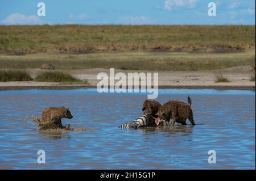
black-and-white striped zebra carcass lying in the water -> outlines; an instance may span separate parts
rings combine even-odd
[[[147,126],[149,117],[150,117],[150,114],[146,113],[133,121],[127,121],[126,123],[123,123],[120,126],[120,128],[121,129],[137,129],[139,127]]]

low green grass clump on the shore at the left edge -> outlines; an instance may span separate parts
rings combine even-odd
[[[0,82],[7,81],[32,81],[32,78],[24,70],[0,70]]]

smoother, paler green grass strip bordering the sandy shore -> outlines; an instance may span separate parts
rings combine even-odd
[[[55,69],[115,68],[122,70],[216,70],[255,65],[255,52],[185,53],[117,52],[90,54],[0,54],[1,68],[35,69],[44,63]]]

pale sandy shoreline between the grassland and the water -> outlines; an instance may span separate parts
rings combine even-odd
[[[27,69],[31,77],[34,78],[42,71],[40,69]],[[59,70],[55,70],[59,71]],[[96,88],[97,74],[104,72],[109,75],[109,69],[83,69],[83,70],[60,70],[72,74],[74,77],[87,80],[89,85],[66,85],[63,83],[51,82],[0,82],[0,90],[18,90],[18,89],[82,89]],[[238,89],[238,90],[255,90],[255,82],[250,81],[253,70],[250,66],[238,66],[234,68],[221,70],[205,70],[205,71],[141,71],[141,70],[115,70],[127,73],[154,73],[158,72],[158,85],[160,89]],[[231,82],[215,83],[215,74],[221,72]],[[117,81],[115,81],[117,82]]]

